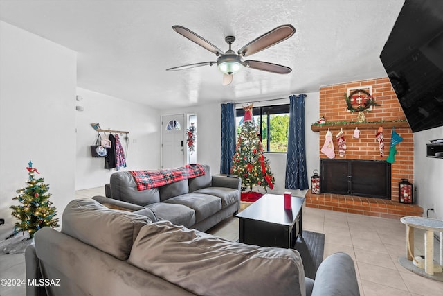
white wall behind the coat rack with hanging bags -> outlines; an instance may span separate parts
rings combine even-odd
[[[129,132],[129,141],[125,141],[125,134],[119,134],[127,163],[127,167],[121,171],[160,167],[158,110],[80,87],[77,88],[77,94],[83,98],[77,105],[84,107],[84,111],[75,112],[75,190],[103,186],[109,183],[110,175],[116,172],[115,168],[104,168],[104,158],[91,157],[89,146],[93,145],[98,134],[91,123],[100,123],[102,129]]]

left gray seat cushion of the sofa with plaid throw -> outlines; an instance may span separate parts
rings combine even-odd
[[[182,204],[169,204],[158,202],[147,206],[154,212],[158,221],[167,220],[176,225],[190,227],[195,224],[195,211]]]

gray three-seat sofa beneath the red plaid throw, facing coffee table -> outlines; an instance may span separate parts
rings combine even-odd
[[[107,207],[129,209],[204,232],[238,212],[242,181],[210,175],[210,167],[202,166],[204,175],[142,191],[138,191],[131,173],[116,172],[111,175],[107,196],[93,199]]]

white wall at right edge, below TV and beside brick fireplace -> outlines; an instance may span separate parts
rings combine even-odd
[[[429,211],[429,217],[443,220],[443,159],[426,157],[429,140],[442,139],[443,127],[414,133],[414,186],[415,203]]]

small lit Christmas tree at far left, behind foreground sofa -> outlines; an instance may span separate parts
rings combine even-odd
[[[39,172],[33,168],[33,163],[29,161],[28,186],[17,190],[19,194],[12,200],[18,200],[21,205],[11,206],[12,216],[20,221],[15,223],[14,231],[10,237],[19,232],[28,232],[30,238],[34,237],[35,232],[42,227],[58,227],[58,218],[55,218],[57,211],[52,207],[49,200],[51,193],[48,193],[49,186],[44,184],[44,178],[35,178],[34,174]]]

